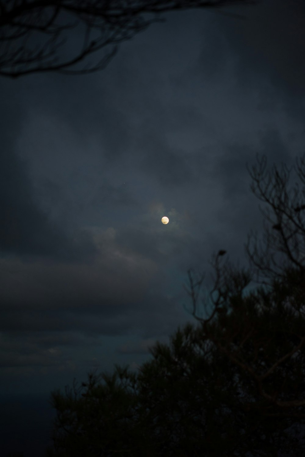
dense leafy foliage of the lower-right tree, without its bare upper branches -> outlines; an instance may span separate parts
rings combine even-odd
[[[284,307],[266,305],[262,312],[250,299],[241,304],[242,314],[235,308],[206,331],[187,324],[170,347],[157,343],[153,360],[137,374],[116,367],[106,386],[92,378],[90,384],[89,375],[79,399],[53,394],[59,414],[56,451],[48,456],[276,456],[279,449],[302,456],[304,444],[287,429],[304,417],[298,397],[304,392],[304,348],[281,359],[298,344],[304,321]],[[257,333],[249,335],[250,323]],[[246,363],[263,378],[263,393]]]

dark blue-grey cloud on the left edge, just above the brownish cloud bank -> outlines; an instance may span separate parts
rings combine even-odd
[[[16,154],[12,125],[20,128],[3,99],[7,112],[2,117],[0,154],[0,251],[2,255],[35,256],[58,260],[89,260],[95,248],[85,233],[73,240],[39,208],[29,177],[28,160]]]

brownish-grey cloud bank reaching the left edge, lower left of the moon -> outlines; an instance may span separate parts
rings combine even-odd
[[[26,309],[27,312],[50,308],[53,311],[83,309],[90,312],[101,306],[122,307],[126,306],[125,302],[137,301],[156,270],[154,262],[142,254],[121,248],[114,239],[114,230],[95,234],[94,238],[99,256],[88,264],[44,260],[24,264],[19,260],[3,260],[2,309]],[[52,325],[51,321],[48,325]]]

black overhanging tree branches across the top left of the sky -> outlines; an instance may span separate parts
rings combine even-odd
[[[160,14],[193,8],[256,4],[254,0],[1,0],[0,74],[11,78],[56,71],[83,74],[104,69],[118,50],[156,21]],[[226,13],[225,13],[226,14]],[[229,13],[227,13],[229,14]],[[239,15],[234,15],[242,17]],[[74,57],[62,58],[61,46],[76,27],[84,37]],[[76,35],[74,36],[76,38]],[[74,43],[75,48],[75,43]],[[96,64],[77,64],[105,48]]]

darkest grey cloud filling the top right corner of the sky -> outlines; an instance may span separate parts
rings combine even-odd
[[[232,71],[242,93],[257,91],[261,110],[280,103],[290,115],[304,116],[304,2],[266,0],[236,10],[246,19],[217,17],[206,24],[197,71],[209,80]]]

